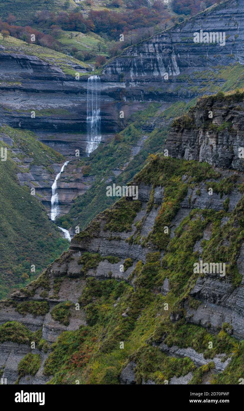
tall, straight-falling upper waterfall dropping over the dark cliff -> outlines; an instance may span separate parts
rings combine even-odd
[[[98,147],[101,141],[101,117],[100,117],[100,77],[91,76],[87,82],[87,147],[85,154]]]

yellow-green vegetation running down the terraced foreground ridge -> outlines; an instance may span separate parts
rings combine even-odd
[[[186,185],[182,182],[183,175],[189,176]],[[217,176],[206,163],[166,158],[163,155],[157,155],[140,171],[135,178],[136,184],[144,182],[166,187],[159,210],[160,218],[155,220],[153,233],[156,233],[156,236],[152,238],[154,244],[158,245],[164,238],[163,226],[166,221],[172,221],[182,196],[187,193],[186,186],[209,178],[215,179]],[[231,185],[233,189],[235,182]],[[120,202],[123,203],[124,200],[119,200],[118,203]],[[198,259],[198,252],[193,253],[193,246],[203,237],[203,231],[209,222],[213,223],[214,229],[211,240],[202,244],[205,261],[211,261],[214,253],[216,258],[220,238],[225,238],[228,233],[231,245],[220,247],[218,258],[222,256],[226,261],[233,260],[233,255],[236,255],[241,244],[236,238],[243,238],[243,208],[242,199],[233,212],[193,209],[175,230],[175,238],[170,239],[165,235],[167,241],[162,242],[165,250],[162,263],[159,252],[147,254],[144,265],[137,263],[134,290],[124,282],[117,284],[114,280],[101,282],[87,278],[87,286],[80,302],[85,308],[88,326],[78,331],[64,332],[58,338],[57,344],[54,344],[53,353],[45,366],[45,372],[54,375],[51,383],[75,383],[78,379],[80,383],[117,384],[121,369],[129,360],[137,364],[137,383],[142,383],[142,379],[152,379],[158,384],[164,384],[164,381],[172,376],[185,375],[190,371],[193,372],[191,383],[200,383],[205,372],[211,370],[211,361],[216,354],[235,353],[226,371],[214,375],[212,383],[238,384],[243,369],[243,344],[230,337],[224,325],[222,330],[212,335],[205,328],[187,324],[184,314],[180,321],[172,323],[169,312],[179,313],[181,316],[181,302],[184,299],[189,299],[192,306],[199,304],[197,300],[189,297],[189,291],[198,277],[192,269],[193,263]],[[108,224],[111,224],[115,231],[117,225],[119,230],[121,222],[124,221],[124,207],[117,208],[116,215],[113,209],[105,212],[105,215]],[[230,223],[221,228],[221,219],[224,216],[230,217]],[[238,219],[239,226],[233,232],[232,224],[235,219]],[[82,237],[82,234],[78,234],[77,239],[79,236]],[[86,266],[89,261],[92,264],[92,255],[90,259],[86,256],[85,261]],[[237,285],[235,264],[233,261],[227,273],[234,286]],[[165,278],[169,279],[170,292],[162,296],[159,290]],[[163,309],[164,303],[168,303],[169,311]],[[128,316],[123,318],[121,314],[125,310]],[[157,346],[152,345],[153,342],[157,344],[163,335],[169,346],[175,344],[182,348],[191,347],[203,353],[208,365],[197,369],[189,358],[183,360],[166,356]],[[120,341],[124,342],[124,349],[120,349]],[[214,349],[208,348],[208,341],[213,342]]]

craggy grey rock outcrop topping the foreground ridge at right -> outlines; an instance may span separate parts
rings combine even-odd
[[[173,122],[165,144],[168,154],[244,171],[243,110],[238,93],[200,99],[189,115]]]

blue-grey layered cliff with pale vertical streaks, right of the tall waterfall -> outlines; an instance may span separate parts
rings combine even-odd
[[[194,91],[189,91],[191,87],[187,87],[187,77],[193,72],[211,70],[219,64],[243,64],[243,11],[243,0],[209,7],[173,28],[128,47],[104,67],[104,77],[123,79],[128,99],[132,96],[145,101],[187,99],[194,95]],[[193,42],[194,33],[201,29],[208,33],[225,32],[225,46]],[[166,73],[168,79],[165,79]],[[194,76],[191,78],[193,88],[204,88],[200,83]]]

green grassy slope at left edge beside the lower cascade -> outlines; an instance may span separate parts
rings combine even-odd
[[[52,162],[61,160],[60,154],[36,141],[31,132],[1,127],[0,133],[13,139],[13,148],[21,148],[27,155],[33,152],[33,164],[51,170]],[[0,161],[0,298],[4,298],[13,287],[34,279],[67,249],[68,242],[49,221],[30,188],[19,185],[17,173],[21,169],[12,159],[16,155],[3,141],[0,146],[8,148],[7,161]],[[32,264],[35,272],[30,271]]]

